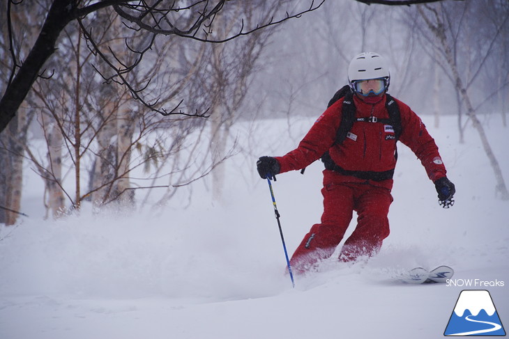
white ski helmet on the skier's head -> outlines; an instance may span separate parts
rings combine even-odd
[[[356,92],[355,81],[380,78],[384,79],[387,90],[390,82],[389,68],[380,54],[364,52],[351,59],[348,66],[348,84],[354,92]]]

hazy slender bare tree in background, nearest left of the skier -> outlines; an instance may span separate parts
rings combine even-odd
[[[263,17],[272,17],[280,10],[281,4],[269,5],[266,1],[241,1],[237,3],[237,13],[246,13],[246,24],[252,26],[256,13]],[[233,18],[236,13],[225,15],[216,22],[216,29],[226,34],[234,31]],[[225,35],[222,33],[222,35]],[[230,33],[230,34],[231,34]],[[218,164],[213,169],[212,189],[216,199],[222,197],[225,184],[225,168],[220,161],[231,152],[230,130],[239,118],[251,118],[252,114],[243,109],[245,95],[250,88],[250,80],[259,69],[258,59],[268,39],[275,33],[274,29],[256,31],[250,36],[236,40],[233,44],[209,45],[209,67],[203,72],[197,90],[200,95],[210,98],[210,141],[211,161]],[[202,86],[206,85],[206,86]],[[206,91],[204,90],[206,88]],[[233,141],[235,143],[235,141]]]

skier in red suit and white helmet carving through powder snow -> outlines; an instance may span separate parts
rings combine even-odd
[[[420,159],[441,205],[453,205],[455,185],[446,177],[434,139],[407,104],[386,93],[390,74],[384,58],[373,52],[359,54],[349,64],[348,80],[347,90],[336,93],[295,150],[257,161],[263,179],[305,168],[319,158],[324,161],[324,212],[321,223],[312,226],[291,257],[297,274],[316,269],[333,255],[353,211],[358,214],[357,226],[344,242],[339,260],[354,262],[379,252],[389,235],[397,140]],[[335,101],[338,95],[342,98]]]

